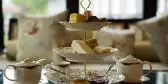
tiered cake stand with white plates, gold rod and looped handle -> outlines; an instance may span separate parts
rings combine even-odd
[[[88,8],[91,5],[91,1],[89,1],[88,6],[85,8],[83,6],[83,1],[80,2],[80,5],[85,11],[88,11]],[[85,13],[86,16],[88,16]],[[81,30],[84,31],[84,40],[86,41],[86,31],[95,31],[95,30],[100,30],[104,26],[110,24],[109,22],[79,22],[79,23],[69,23],[69,22],[59,22],[66,26],[67,28],[75,29],[75,30]],[[78,53],[67,53],[63,50],[63,48],[55,48],[53,49],[54,52],[57,54],[61,55],[62,57],[65,57],[67,61],[72,61],[72,62],[83,62],[84,63],[84,72],[86,75],[86,63],[87,62],[101,62],[104,60],[105,57],[107,56],[112,56],[115,52],[117,52],[117,49],[114,48],[111,50],[110,53],[104,53],[104,54],[78,54]]]

